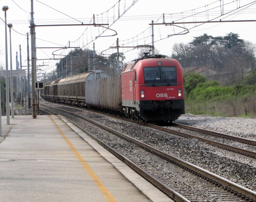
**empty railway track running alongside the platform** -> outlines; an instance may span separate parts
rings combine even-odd
[[[256,192],[91,119],[58,108],[54,110],[72,114],[75,119],[79,117],[97,125],[100,130],[105,130],[104,134],[108,131],[108,134],[104,135],[106,137],[102,137],[102,134],[95,137],[78,126],[175,201],[256,201]],[[100,140],[99,137],[103,139]],[[118,143],[113,143],[113,139],[118,139]]]

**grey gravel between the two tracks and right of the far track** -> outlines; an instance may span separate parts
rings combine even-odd
[[[55,105],[54,107],[67,108],[60,105]],[[256,191],[255,159],[208,145],[198,139],[182,138],[93,112],[77,109],[74,111],[252,191]],[[255,117],[223,118],[185,114],[174,122],[256,140]]]

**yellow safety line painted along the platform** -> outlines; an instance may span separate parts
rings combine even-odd
[[[104,195],[104,197],[107,199],[107,201],[111,202],[117,202],[116,199],[112,196],[112,194],[108,191],[108,189],[105,187],[105,185],[100,181],[99,177],[93,172],[91,167],[88,165],[88,163],[83,159],[83,157],[79,154],[79,152],[76,150],[76,148],[73,146],[73,144],[68,140],[67,136],[62,132],[58,124],[52,119],[51,116],[49,116],[53,122],[53,124],[56,126],[58,131],[60,132],[61,136],[64,138],[64,140],[67,142],[68,146],[71,148],[71,150],[76,155],[76,158],[80,161],[80,163],[84,166],[84,169],[87,171],[87,173],[92,178],[93,182],[96,184],[96,186],[99,188],[101,193]]]

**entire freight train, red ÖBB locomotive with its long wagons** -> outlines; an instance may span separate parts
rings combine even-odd
[[[133,60],[118,76],[93,70],[48,82],[41,97],[145,122],[171,122],[185,113],[182,68],[165,55]]]

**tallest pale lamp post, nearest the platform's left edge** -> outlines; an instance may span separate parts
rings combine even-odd
[[[9,76],[8,76],[8,50],[7,50],[7,24],[6,24],[6,11],[9,9],[8,6],[3,6],[5,18],[5,68],[6,68],[6,122],[10,125],[10,104],[9,104]]]

